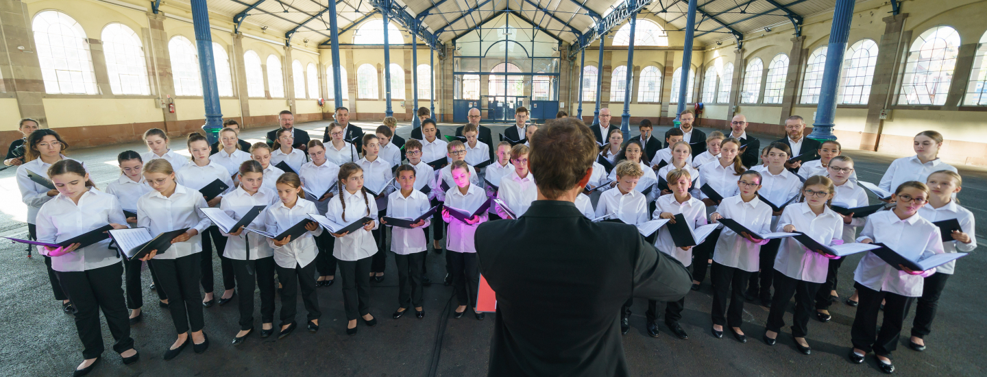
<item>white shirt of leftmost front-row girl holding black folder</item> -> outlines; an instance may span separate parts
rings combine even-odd
[[[116,196],[89,188],[79,196],[77,205],[61,193],[41,205],[38,210],[38,241],[56,244],[107,224],[126,224]],[[38,253],[47,256],[44,247]],[[110,239],[60,257],[51,257],[51,269],[61,272],[84,271],[120,263],[120,257],[110,250]]]

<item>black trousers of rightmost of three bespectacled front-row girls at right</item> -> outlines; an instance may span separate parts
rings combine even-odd
[[[905,313],[912,305],[914,297],[902,296],[885,291],[875,291],[861,283],[856,283],[860,304],[857,305],[857,317],[850,329],[850,337],[854,347],[865,352],[873,350],[878,356],[891,357],[891,351],[898,347],[898,337],[901,336],[901,325],[905,321]],[[880,302],[884,301],[884,321],[877,332],[877,314],[880,313]]]

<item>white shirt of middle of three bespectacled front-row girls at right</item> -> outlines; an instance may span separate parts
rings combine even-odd
[[[780,216],[776,232],[784,232],[786,225],[794,225],[798,232],[805,233],[815,242],[832,246],[841,244],[843,217],[824,206],[816,215],[806,202],[793,203]],[[775,270],[796,280],[823,283],[829,271],[829,259],[815,251],[808,251],[795,238],[783,238],[775,257]]]

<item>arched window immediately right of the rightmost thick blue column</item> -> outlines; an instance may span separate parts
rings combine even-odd
[[[877,65],[877,43],[861,39],[850,46],[840,77],[840,104],[867,105],[871,97],[873,68]]]

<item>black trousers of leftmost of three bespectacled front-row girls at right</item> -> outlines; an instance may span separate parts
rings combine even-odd
[[[713,263],[710,278],[713,280],[713,324],[739,328],[743,324],[743,289],[750,273],[740,268]],[[730,306],[726,306],[726,295]],[[726,316],[723,317],[723,312]]]

